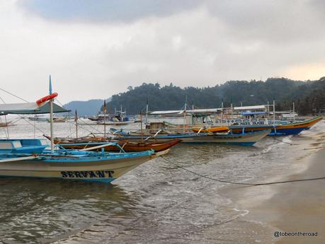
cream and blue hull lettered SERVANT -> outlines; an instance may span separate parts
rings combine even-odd
[[[138,165],[156,157],[152,151],[128,154],[128,156],[118,156],[116,153],[105,158],[49,157],[1,162],[0,176],[112,182]]]

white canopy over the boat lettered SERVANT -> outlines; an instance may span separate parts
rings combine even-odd
[[[69,112],[61,106],[53,103],[53,112]],[[34,115],[50,113],[50,102],[38,106],[37,103],[8,103],[0,104],[0,115]]]

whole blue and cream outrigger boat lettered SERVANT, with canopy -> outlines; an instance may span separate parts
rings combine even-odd
[[[42,114],[50,112],[51,137],[53,138],[53,112],[68,112],[53,103],[57,93],[41,98],[36,103],[0,105],[1,114]],[[153,150],[136,153],[94,152],[91,149],[51,149],[42,139],[2,139],[0,141],[0,177],[57,178],[62,180],[88,180],[111,182],[138,165],[155,158],[165,151]],[[109,143],[104,146],[118,146]],[[120,148],[121,151],[123,149]]]

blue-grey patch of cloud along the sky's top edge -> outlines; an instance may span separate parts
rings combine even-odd
[[[200,3],[195,0],[21,0],[26,10],[55,21],[132,22],[170,16]]]

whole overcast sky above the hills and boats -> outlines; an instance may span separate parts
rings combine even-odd
[[[319,79],[324,26],[322,0],[0,0],[0,88],[34,101],[51,74],[66,103],[143,82]]]

